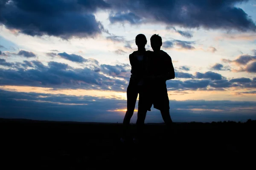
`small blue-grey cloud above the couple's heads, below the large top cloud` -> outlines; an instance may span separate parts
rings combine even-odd
[[[132,13],[132,12],[127,12],[127,13],[123,13],[123,12],[117,12],[115,14],[110,14],[109,16],[109,21],[111,23],[123,23],[123,22],[128,22],[131,24],[139,24],[141,23],[142,18],[137,16],[136,14]]]

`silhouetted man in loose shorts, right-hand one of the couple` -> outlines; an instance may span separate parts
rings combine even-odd
[[[139,97],[138,117],[137,117],[137,138],[141,135],[147,111],[150,111],[152,105],[160,110],[163,121],[167,127],[172,126],[172,119],[169,113],[169,98],[166,88],[166,80],[175,78],[175,71],[172,65],[171,57],[163,50],[162,38],[154,34],[150,38],[153,52],[147,61],[147,77],[143,85],[143,91]]]

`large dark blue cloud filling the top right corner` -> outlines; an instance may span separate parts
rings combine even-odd
[[[131,24],[166,23],[186,28],[221,28],[255,31],[253,20],[235,5],[247,0],[107,0],[113,7],[115,21]],[[122,11],[128,11],[123,12]],[[134,17],[127,17],[130,14]],[[134,19],[135,18],[135,19]],[[111,19],[111,17],[110,17]]]

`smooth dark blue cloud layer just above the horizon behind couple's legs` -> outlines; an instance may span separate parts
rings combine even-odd
[[[106,99],[93,96],[53,95],[44,93],[24,93],[0,90],[0,117],[13,119],[35,119],[77,122],[122,122],[126,100]],[[54,101],[54,102],[53,102]],[[170,100],[174,122],[218,122],[256,119],[256,102]],[[52,109],[55,108],[55,109]],[[59,116],[61,113],[62,116]],[[201,114],[198,114],[201,113]],[[232,113],[232,114],[230,114]],[[136,122],[133,116],[131,122]],[[148,122],[163,122],[159,111],[147,113]]]

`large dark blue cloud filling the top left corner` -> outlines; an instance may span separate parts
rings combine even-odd
[[[103,0],[12,0],[2,2],[0,23],[31,36],[93,37],[104,28],[96,9],[110,6]]]

